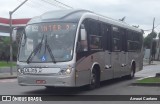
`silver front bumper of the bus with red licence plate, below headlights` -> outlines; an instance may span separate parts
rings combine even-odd
[[[55,86],[55,87],[75,87],[73,76],[39,76],[22,75],[18,76],[18,84],[21,86]]]

